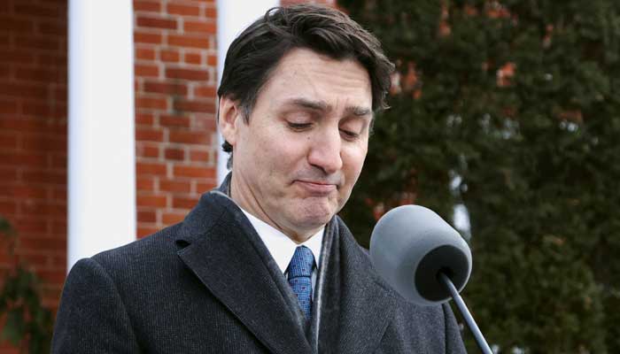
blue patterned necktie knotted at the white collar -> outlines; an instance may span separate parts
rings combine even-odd
[[[314,268],[314,256],[312,250],[306,246],[299,246],[293,254],[289,264],[289,284],[297,299],[301,311],[306,319],[312,316],[312,271]]]

